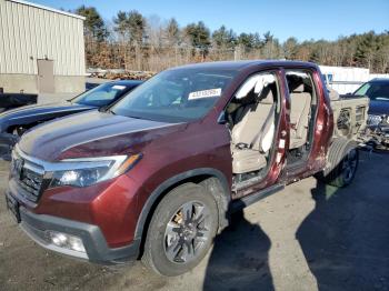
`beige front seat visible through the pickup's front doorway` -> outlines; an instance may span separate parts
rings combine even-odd
[[[232,171],[246,173],[267,165],[266,153],[275,136],[275,99],[270,86],[259,102],[247,106],[242,119],[232,129]]]

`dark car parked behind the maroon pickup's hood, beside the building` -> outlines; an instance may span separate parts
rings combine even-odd
[[[63,102],[18,108],[0,114],[0,159],[10,159],[10,152],[19,137],[42,122],[64,116],[108,107],[142,83],[123,80],[100,84]]]

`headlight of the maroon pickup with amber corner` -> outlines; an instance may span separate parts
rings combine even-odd
[[[116,178],[131,169],[141,154],[114,155],[90,159],[71,159],[58,163],[52,172],[50,187],[73,185],[88,187]]]

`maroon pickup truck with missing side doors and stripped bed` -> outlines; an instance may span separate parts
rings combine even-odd
[[[106,111],[23,134],[7,203],[47,249],[99,263],[141,258],[177,275],[235,210],[313,174],[349,184],[368,106],[331,100],[312,63],[170,69]]]

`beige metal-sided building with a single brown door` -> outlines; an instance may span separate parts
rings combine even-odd
[[[0,0],[0,88],[4,92],[84,90],[83,17]]]

